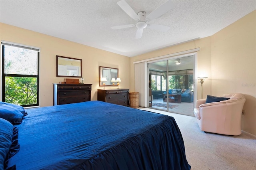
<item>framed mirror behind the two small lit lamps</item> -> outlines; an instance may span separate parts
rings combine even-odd
[[[105,86],[110,86],[110,85],[117,85],[116,82],[111,82],[111,80],[114,78],[118,78],[118,69],[116,68],[111,68],[111,67],[102,67],[100,66],[100,71],[99,71],[100,75],[100,79],[99,79],[99,83],[100,86],[104,86],[103,83],[105,83]],[[106,81],[102,82],[100,81],[102,79],[102,77],[106,77]]]

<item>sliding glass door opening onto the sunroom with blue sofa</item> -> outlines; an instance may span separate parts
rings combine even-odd
[[[148,63],[149,107],[192,115],[194,57]]]

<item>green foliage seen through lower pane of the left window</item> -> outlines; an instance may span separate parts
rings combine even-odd
[[[37,78],[6,77],[5,101],[16,105],[37,103]]]

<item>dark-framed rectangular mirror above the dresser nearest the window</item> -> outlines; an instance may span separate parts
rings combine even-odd
[[[56,55],[57,77],[82,77],[82,59]]]

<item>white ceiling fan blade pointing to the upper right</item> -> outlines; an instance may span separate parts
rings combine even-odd
[[[160,16],[162,16],[164,13],[166,13],[168,10],[172,9],[174,7],[174,2],[171,0],[168,0],[158,8],[156,8],[154,11],[152,11],[148,16],[146,16],[146,20],[154,20]]]

